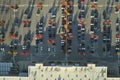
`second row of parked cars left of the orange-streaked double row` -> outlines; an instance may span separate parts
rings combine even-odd
[[[43,5],[41,2],[37,2],[37,12],[36,16],[40,17],[41,10],[43,9]],[[44,19],[45,17],[42,16],[40,18],[40,21],[37,22],[36,24],[36,33],[35,33],[35,42],[36,42],[36,52],[39,52],[39,47],[40,51],[43,51],[43,39],[44,39]]]

